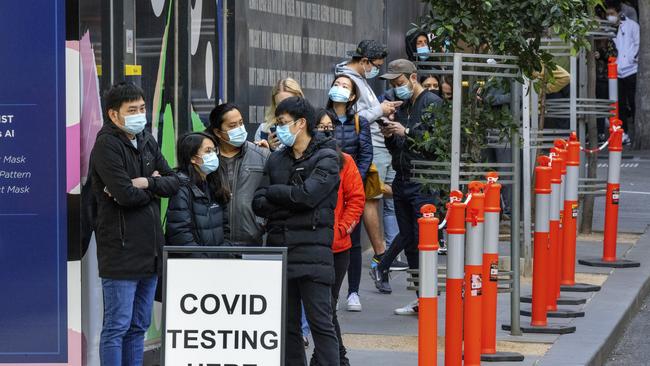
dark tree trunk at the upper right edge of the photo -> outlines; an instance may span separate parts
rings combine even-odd
[[[650,149],[650,0],[639,0],[639,71],[636,75],[634,149]]]

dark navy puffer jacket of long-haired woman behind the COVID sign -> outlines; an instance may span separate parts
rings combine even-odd
[[[208,194],[207,184],[199,188],[182,172],[178,192],[169,200],[165,238],[167,245],[222,246],[224,209]],[[208,255],[200,255],[207,257]]]

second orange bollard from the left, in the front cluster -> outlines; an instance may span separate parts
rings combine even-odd
[[[463,363],[463,278],[465,203],[451,191],[447,203],[447,288],[445,290],[445,366]]]

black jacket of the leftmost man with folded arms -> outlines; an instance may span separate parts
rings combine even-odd
[[[137,279],[161,271],[165,238],[159,197],[174,195],[179,183],[149,132],[137,135],[137,145],[108,122],[97,134],[90,156],[102,278]],[[161,177],[151,177],[154,171]],[[138,177],[147,177],[149,188],[135,188],[131,179]]]

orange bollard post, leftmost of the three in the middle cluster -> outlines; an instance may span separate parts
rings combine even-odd
[[[535,235],[533,261],[533,311],[530,324],[546,326],[548,286],[548,239],[551,168],[548,156],[540,156],[535,167]]]

